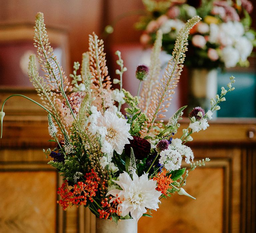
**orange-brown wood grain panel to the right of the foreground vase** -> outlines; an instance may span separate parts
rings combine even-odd
[[[223,230],[223,168],[197,169],[184,187],[197,199],[175,195],[161,199],[153,218],[142,217],[138,232],[220,233]],[[209,221],[211,219],[211,221]]]

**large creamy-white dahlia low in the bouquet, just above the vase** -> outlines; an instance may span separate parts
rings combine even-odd
[[[132,180],[128,173],[124,172],[119,175],[119,180],[112,181],[117,183],[122,190],[112,189],[107,193],[107,196],[111,194],[116,197],[116,194],[118,194],[121,200],[124,199],[122,203],[118,204],[123,217],[130,212],[132,218],[138,221],[147,212],[146,208],[153,210],[159,208],[161,192],[156,190],[157,181],[148,179],[148,173],[138,177],[134,172]],[[112,198],[110,202],[114,200],[115,198]]]

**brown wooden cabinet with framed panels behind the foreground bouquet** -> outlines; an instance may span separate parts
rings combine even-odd
[[[1,102],[9,94],[0,93]],[[0,140],[0,231],[94,232],[88,209],[63,211],[56,203],[62,180],[42,152],[54,146],[48,142],[46,114],[34,108],[29,115],[26,100],[15,101],[6,105]],[[181,128],[187,123],[181,122]],[[162,198],[153,218],[139,220],[138,232],[255,232],[255,130],[255,119],[218,119],[195,133],[190,143],[195,160],[211,159],[187,178],[184,188],[196,200],[176,194]]]

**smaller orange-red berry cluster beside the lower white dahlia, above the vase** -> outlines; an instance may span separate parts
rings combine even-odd
[[[104,198],[101,201],[101,206],[103,209],[98,209],[99,212],[99,218],[105,218],[108,219],[109,215],[112,214],[117,214],[118,216],[121,215],[121,208],[118,207],[118,204],[122,203],[123,200],[120,199],[120,197],[118,197],[118,194],[116,194],[116,197],[114,198],[114,200],[109,203],[109,201],[112,199],[112,197],[110,196],[109,198]],[[110,220],[112,220],[112,217],[110,217]]]

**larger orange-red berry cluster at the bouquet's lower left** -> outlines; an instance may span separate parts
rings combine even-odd
[[[67,180],[58,188],[57,193],[61,196],[61,200],[57,203],[63,207],[63,210],[67,210],[70,204],[78,207],[79,205],[86,205],[87,201],[93,202],[92,197],[96,196],[98,191],[99,177],[93,169],[84,177],[85,181],[79,181],[71,190],[68,188]]]

